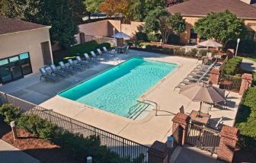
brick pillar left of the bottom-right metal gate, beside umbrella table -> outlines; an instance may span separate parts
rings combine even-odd
[[[172,133],[178,129],[178,126],[181,126],[183,129],[183,136],[182,140],[178,141],[180,142],[179,145],[184,145],[187,140],[187,133],[188,133],[188,123],[189,123],[190,117],[187,114],[184,113],[177,113],[175,117],[172,119]]]

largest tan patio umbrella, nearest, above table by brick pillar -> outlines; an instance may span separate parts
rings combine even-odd
[[[201,113],[203,102],[214,104],[216,102],[225,101],[225,90],[205,83],[184,85],[181,87],[180,94],[190,98],[191,101],[200,101],[199,113]]]

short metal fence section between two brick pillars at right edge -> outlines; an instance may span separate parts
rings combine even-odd
[[[229,91],[238,92],[240,90],[242,78],[239,76],[232,75],[220,75],[219,88],[226,89]]]

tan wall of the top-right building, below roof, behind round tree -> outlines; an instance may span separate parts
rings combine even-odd
[[[186,22],[186,30],[183,34],[181,34],[180,41],[181,43],[188,44],[190,41],[190,29],[194,28],[195,22],[197,22],[200,18],[198,17],[183,17]],[[254,30],[254,39],[256,38],[256,21],[255,20],[245,20],[245,25],[248,27],[248,30]],[[199,43],[199,36],[197,36],[197,43]]]

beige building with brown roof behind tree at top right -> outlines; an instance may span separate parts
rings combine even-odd
[[[171,14],[180,12],[186,21],[186,31],[181,34],[181,43],[197,44],[204,38],[194,31],[194,24],[210,12],[229,10],[245,21],[248,27],[246,39],[256,39],[256,7],[253,0],[189,0],[168,8]]]

